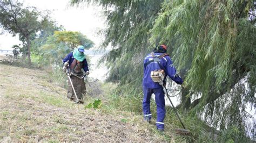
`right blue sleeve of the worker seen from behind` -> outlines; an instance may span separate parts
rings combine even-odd
[[[167,70],[167,75],[177,84],[182,84],[183,80],[181,77],[176,73],[176,68],[173,66],[173,62],[170,56],[165,56],[166,58],[166,65],[165,69]]]

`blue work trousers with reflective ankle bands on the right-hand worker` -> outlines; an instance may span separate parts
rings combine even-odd
[[[154,94],[156,96],[157,104],[157,129],[164,130],[164,118],[165,118],[165,99],[164,99],[164,90],[163,88],[146,88],[143,87],[143,113],[145,120],[151,120],[151,111],[150,111],[150,98]]]

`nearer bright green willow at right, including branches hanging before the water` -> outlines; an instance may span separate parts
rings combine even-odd
[[[189,90],[183,104],[203,109],[204,119],[224,130],[246,129],[246,105],[255,106],[256,27],[247,20],[253,1],[164,1],[151,41],[173,47]],[[191,102],[190,98],[198,99]],[[199,96],[200,95],[200,96]]]

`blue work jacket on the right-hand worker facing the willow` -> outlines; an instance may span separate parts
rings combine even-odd
[[[159,56],[163,53],[154,53],[156,56]],[[156,69],[161,69],[161,67],[158,65],[157,62],[151,62],[148,65],[146,63],[148,61],[151,61],[153,59],[153,56],[151,54],[148,54],[146,58],[144,59],[144,75],[143,75],[143,87],[146,88],[160,88],[161,85],[157,82],[153,82],[150,74],[151,71],[156,70]],[[164,56],[163,58],[160,59],[159,61],[160,65],[165,68],[165,74],[167,74],[174,82],[178,84],[182,84],[183,80],[176,74],[176,69],[173,66],[173,62],[170,58],[169,55]],[[167,72],[167,73],[166,73]]]

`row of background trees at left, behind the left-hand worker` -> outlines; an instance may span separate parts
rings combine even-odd
[[[50,15],[51,11],[39,11],[17,0],[0,1],[0,26],[6,32],[19,35],[19,40],[23,42],[19,48],[22,54],[28,56],[29,65],[31,54],[38,56],[41,62],[50,60],[59,63],[78,45],[85,48],[94,45],[80,32],[65,31]]]

